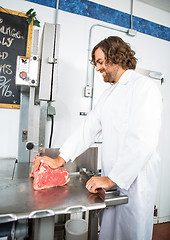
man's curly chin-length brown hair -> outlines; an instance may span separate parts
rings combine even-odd
[[[106,63],[119,64],[123,69],[135,69],[137,59],[130,45],[120,37],[110,36],[99,42],[92,50],[91,63],[95,63],[95,51],[100,48],[105,54]]]

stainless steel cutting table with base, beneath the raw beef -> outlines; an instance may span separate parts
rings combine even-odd
[[[88,239],[97,240],[100,211],[128,201],[116,188],[109,192],[102,190],[99,194],[89,193],[85,183],[92,176],[91,171],[69,172],[67,185],[34,191],[28,176],[29,163],[2,162],[9,165],[4,172],[6,178],[0,179],[0,233],[6,228],[4,234],[11,239],[64,240],[66,220],[76,217],[87,220]],[[15,171],[10,171],[11,165]]]

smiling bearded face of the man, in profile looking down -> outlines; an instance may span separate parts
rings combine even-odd
[[[100,72],[105,82],[116,83],[119,66],[113,63],[106,63],[104,52],[98,48],[95,51],[96,71]]]

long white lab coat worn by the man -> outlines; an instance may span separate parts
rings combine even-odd
[[[161,105],[152,79],[127,70],[60,149],[66,161],[74,160],[102,131],[102,175],[109,176],[129,202],[105,209],[100,240],[152,239]]]

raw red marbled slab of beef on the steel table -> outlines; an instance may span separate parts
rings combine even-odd
[[[45,163],[41,164],[38,171],[34,171],[33,166],[30,177],[34,178],[33,188],[35,190],[63,186],[70,180],[66,168],[51,169]]]

